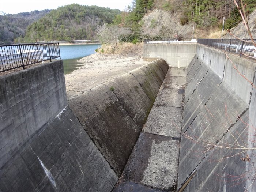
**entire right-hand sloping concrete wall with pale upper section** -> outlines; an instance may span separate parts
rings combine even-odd
[[[255,82],[256,64],[229,57],[236,67],[225,53],[197,45],[188,66],[178,189],[244,191],[253,182],[255,150],[227,147],[254,146],[256,92],[248,80]],[[242,160],[247,154],[251,162]]]

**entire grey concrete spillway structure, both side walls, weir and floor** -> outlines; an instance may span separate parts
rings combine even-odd
[[[61,60],[1,76],[0,191],[256,191],[256,63],[199,44],[143,57],[69,102]]]

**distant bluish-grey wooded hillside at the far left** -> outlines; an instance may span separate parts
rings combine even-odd
[[[27,26],[49,13],[50,10],[0,15],[0,44],[11,44],[17,37],[24,37]]]

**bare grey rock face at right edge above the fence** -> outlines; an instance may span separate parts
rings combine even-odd
[[[256,10],[254,10],[249,15],[248,25],[250,27],[250,31],[252,33],[253,39],[256,39]],[[237,27],[233,27],[230,30],[230,32],[241,39],[250,38],[243,22],[239,23]],[[231,36],[229,33],[227,33],[226,35],[223,36],[223,38],[233,39],[234,37]]]

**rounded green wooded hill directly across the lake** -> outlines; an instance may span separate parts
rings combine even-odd
[[[24,38],[17,41],[94,39],[95,29],[103,23],[112,23],[120,10],[98,6],[71,4],[59,7],[27,27]]]

